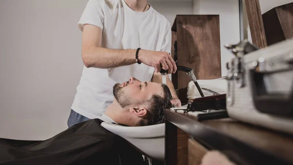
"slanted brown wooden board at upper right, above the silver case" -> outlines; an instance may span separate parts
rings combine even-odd
[[[267,47],[259,0],[245,0],[245,4],[251,30],[252,43],[259,48]]]

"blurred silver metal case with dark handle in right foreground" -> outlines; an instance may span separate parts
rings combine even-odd
[[[293,134],[293,39],[258,50],[247,40],[226,45],[231,118]]]

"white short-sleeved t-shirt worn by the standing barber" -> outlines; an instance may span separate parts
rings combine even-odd
[[[104,48],[171,51],[170,23],[151,6],[135,12],[124,0],[89,0],[78,23],[81,31],[84,24],[103,30]],[[143,63],[112,69],[84,67],[71,109],[90,119],[100,118],[113,102],[114,84],[131,76],[150,81],[153,73],[154,68]]]

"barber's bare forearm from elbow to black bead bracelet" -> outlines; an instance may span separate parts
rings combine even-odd
[[[136,50],[115,50],[102,47],[92,47],[83,50],[82,57],[85,67],[115,68],[136,63]]]

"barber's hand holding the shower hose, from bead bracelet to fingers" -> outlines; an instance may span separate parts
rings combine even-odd
[[[161,71],[161,66],[162,69],[168,70],[168,74],[177,71],[175,61],[167,52],[140,50],[138,60],[148,66],[156,68],[155,72],[157,73]]]

